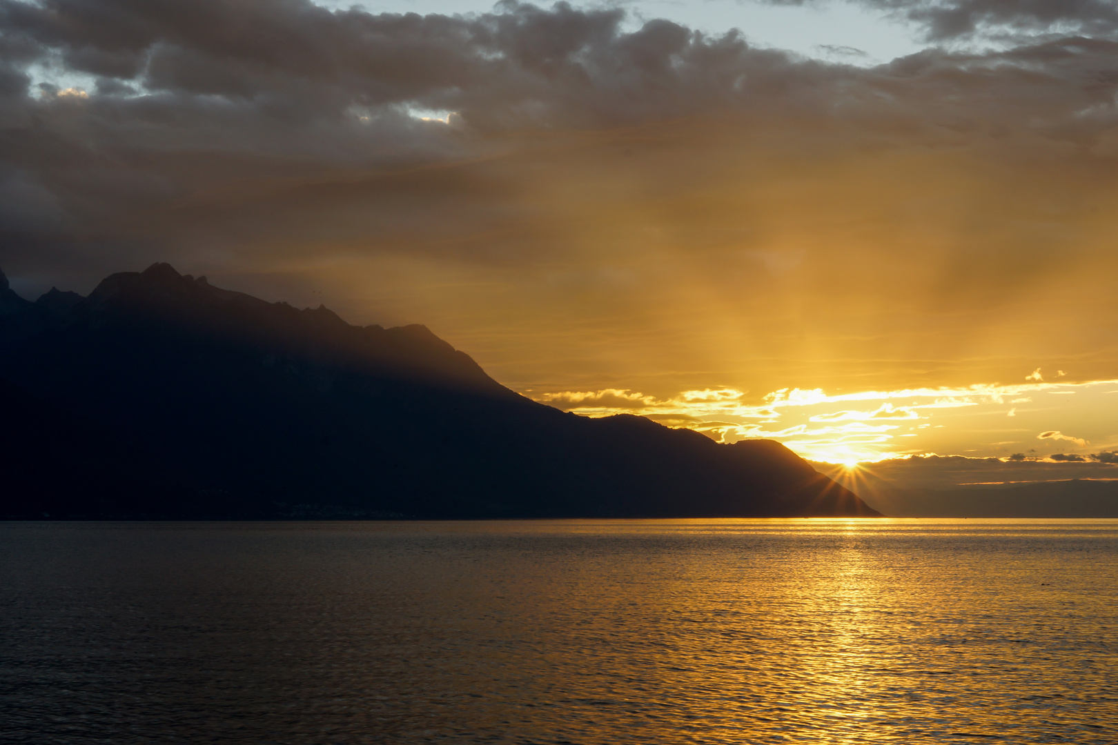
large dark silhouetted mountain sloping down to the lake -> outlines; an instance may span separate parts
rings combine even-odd
[[[165,264],[15,297],[3,517],[878,515],[777,442],[565,413],[424,326],[352,326]]]

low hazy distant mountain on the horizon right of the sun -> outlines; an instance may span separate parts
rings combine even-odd
[[[954,489],[877,489],[892,517],[1118,517],[1118,481],[1070,479]]]

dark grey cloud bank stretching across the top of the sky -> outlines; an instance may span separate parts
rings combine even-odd
[[[70,219],[104,223],[229,180],[473,157],[487,152],[479,137],[525,128],[737,115],[743,127],[790,118],[932,140],[1025,128],[1089,143],[1115,121],[1109,42],[929,51],[861,70],[732,31],[654,20],[626,32],[622,20],[565,3],[462,18],[299,0],[3,0],[0,157],[36,194],[29,212],[42,213],[44,191]],[[28,66],[49,60],[95,88],[29,92]],[[407,107],[455,116],[428,124]]]

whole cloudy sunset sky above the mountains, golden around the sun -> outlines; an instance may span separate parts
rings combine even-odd
[[[0,0],[0,268],[169,261],[912,484],[1110,478],[1116,94],[1102,0]]]

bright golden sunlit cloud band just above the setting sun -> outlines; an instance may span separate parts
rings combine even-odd
[[[953,447],[954,439],[967,448],[967,452],[986,452],[987,460],[997,462],[1044,461],[1045,456],[1014,453],[1006,456],[1012,447],[1021,447],[1020,439],[994,440],[989,436],[1020,438],[1031,431],[1029,424],[1036,417],[1049,419],[1052,409],[1043,413],[1016,408],[1005,411],[1004,401],[1020,397],[1023,391],[1068,392],[1078,391],[1089,401],[1102,393],[1115,381],[1089,381],[1083,383],[1033,382],[1015,385],[969,385],[960,389],[901,389],[897,391],[859,391],[827,394],[822,389],[780,389],[761,397],[764,403],[751,404],[746,393],[733,388],[710,388],[691,390],[674,395],[648,395],[627,389],[607,389],[594,392],[529,392],[537,401],[559,407],[567,411],[590,417],[607,417],[617,413],[645,416],[670,427],[685,427],[703,432],[720,442],[733,442],[742,438],[771,438],[787,445],[796,452],[818,461],[827,462],[883,462],[888,459],[907,458],[932,447]],[[1053,391],[1052,389],[1061,389]],[[966,394],[966,395],[964,395]],[[1027,398],[1027,397],[1025,397]],[[898,401],[900,400],[900,401]],[[860,409],[835,410],[837,402],[872,401],[875,405]],[[928,403],[922,403],[928,401]],[[1096,404],[1097,405],[1097,404]],[[965,410],[965,411],[960,411]],[[1095,409],[1092,419],[1100,409]],[[988,414],[1005,414],[1025,418],[1016,428],[992,427]],[[1083,426],[1081,413],[1064,410],[1061,417],[1071,417],[1076,426]],[[948,424],[922,423],[918,421],[938,419]],[[941,430],[941,431],[937,431]],[[1035,430],[1032,430],[1035,431]],[[964,434],[964,432],[966,432]],[[1004,434],[1003,434],[1004,433]],[[913,439],[907,439],[913,438]],[[965,440],[964,438],[970,438]],[[1087,439],[1063,434],[1060,430],[1044,430],[1038,439],[1067,440],[1082,447]],[[963,445],[966,442],[966,445]],[[976,447],[977,446],[977,447]],[[980,449],[979,449],[980,448]],[[1086,462],[1087,456],[1052,456],[1055,461]],[[1107,456],[1089,457],[1095,462],[1109,462]],[[973,458],[972,458],[973,460]],[[1049,459],[1051,460],[1051,459]],[[1013,480],[1013,479],[1011,479]]]

